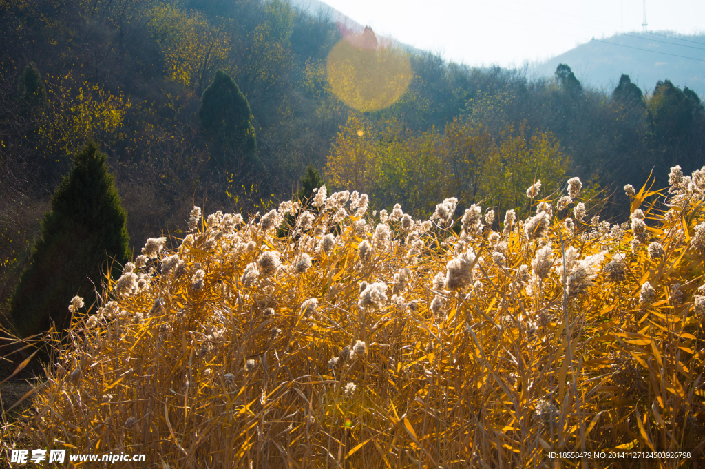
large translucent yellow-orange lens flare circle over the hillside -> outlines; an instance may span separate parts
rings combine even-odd
[[[358,111],[379,111],[394,104],[412,79],[411,63],[398,47],[378,47],[365,35],[343,37],[327,59],[333,93]]]

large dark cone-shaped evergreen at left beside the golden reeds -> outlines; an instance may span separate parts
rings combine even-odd
[[[13,294],[11,320],[16,334],[27,337],[71,324],[68,304],[81,296],[94,302],[109,266],[129,259],[127,214],[114,186],[106,157],[89,143],[73,159],[73,169],[51,197],[42,236]]]

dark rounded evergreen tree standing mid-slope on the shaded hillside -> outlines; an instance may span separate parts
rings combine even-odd
[[[201,99],[201,126],[217,152],[234,152],[240,161],[249,159],[257,148],[252,110],[233,78],[222,70]]]

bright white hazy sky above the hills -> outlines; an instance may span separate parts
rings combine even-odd
[[[469,65],[548,59],[592,37],[642,31],[643,18],[642,0],[324,1],[378,35]],[[646,0],[646,20],[650,31],[703,32],[705,0]]]

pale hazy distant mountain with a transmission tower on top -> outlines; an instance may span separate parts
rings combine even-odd
[[[705,34],[628,32],[593,38],[529,68],[529,73],[551,76],[560,63],[570,66],[583,85],[607,91],[626,73],[642,90],[654,90],[658,80],[670,80],[705,96]]]

